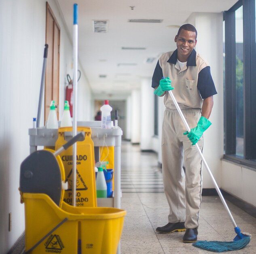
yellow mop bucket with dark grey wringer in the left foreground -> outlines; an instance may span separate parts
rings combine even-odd
[[[39,150],[21,163],[20,194],[25,203],[26,253],[113,254],[121,237],[125,210],[76,207],[62,202],[63,163],[59,150]]]

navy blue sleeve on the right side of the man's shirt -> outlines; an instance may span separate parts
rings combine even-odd
[[[217,94],[209,66],[201,69],[198,73],[197,89],[203,99]]]

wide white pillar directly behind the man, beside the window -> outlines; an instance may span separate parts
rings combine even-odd
[[[214,96],[214,107],[209,120],[211,127],[204,133],[203,155],[217,183],[221,186],[221,161],[223,156],[223,40],[222,13],[193,13],[185,23],[197,29],[196,51],[209,62],[217,95]],[[214,185],[203,167],[203,187],[213,188]]]

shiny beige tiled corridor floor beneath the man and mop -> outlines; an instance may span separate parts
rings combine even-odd
[[[139,146],[122,144],[122,208],[127,210],[121,254],[190,254],[212,253],[182,242],[181,233],[159,234],[156,227],[167,223],[169,206],[163,193],[162,174],[157,167],[157,155],[141,153]],[[227,202],[237,225],[252,234],[246,248],[229,254],[256,254],[256,219]],[[198,240],[232,241],[233,225],[220,199],[203,196]]]

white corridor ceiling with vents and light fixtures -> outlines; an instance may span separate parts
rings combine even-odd
[[[57,0],[73,36],[73,1]],[[151,78],[159,56],[176,48],[177,27],[193,12],[222,12],[237,0],[77,0],[78,58],[95,97],[124,96]],[[133,10],[130,6],[134,6]],[[129,19],[162,19],[130,23]],[[94,33],[93,20],[108,20],[107,33]],[[122,47],[146,48],[123,50]],[[146,63],[147,58],[155,58]],[[125,65],[123,65],[125,64]],[[129,65],[127,65],[129,64]],[[101,78],[99,75],[106,75]]]

